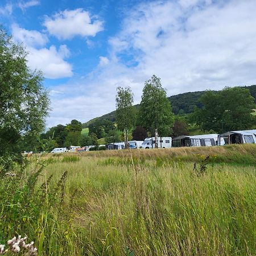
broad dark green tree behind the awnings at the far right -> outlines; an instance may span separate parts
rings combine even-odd
[[[203,108],[196,109],[192,118],[203,130],[224,133],[229,130],[249,129],[255,122],[250,114],[254,99],[248,89],[225,88],[220,92],[206,92],[201,98]]]

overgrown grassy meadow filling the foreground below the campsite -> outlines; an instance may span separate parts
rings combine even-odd
[[[256,255],[255,151],[247,144],[29,158],[23,192],[2,198],[0,239],[26,234],[39,255]]]

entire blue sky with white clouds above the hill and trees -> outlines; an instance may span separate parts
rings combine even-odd
[[[0,23],[50,91],[47,126],[134,103],[155,74],[168,96],[255,84],[255,0],[1,0]]]

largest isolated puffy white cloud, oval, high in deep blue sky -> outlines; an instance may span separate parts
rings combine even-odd
[[[102,22],[93,19],[88,11],[82,9],[61,11],[53,18],[47,16],[44,26],[59,39],[72,39],[77,35],[95,36],[103,30]]]

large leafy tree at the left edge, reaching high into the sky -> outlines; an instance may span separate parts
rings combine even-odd
[[[23,46],[0,28],[0,158],[20,155],[20,141],[44,128],[48,93],[43,75],[27,66]]]

